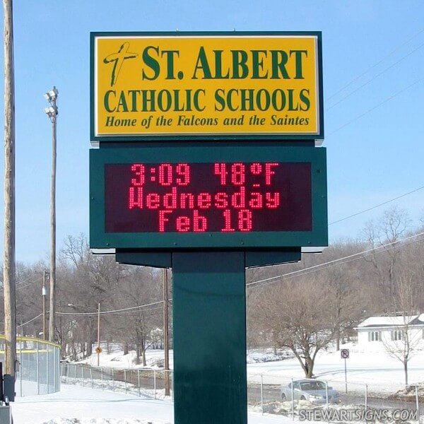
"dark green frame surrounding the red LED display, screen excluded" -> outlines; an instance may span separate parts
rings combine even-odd
[[[190,148],[100,148],[90,150],[90,248],[91,249],[278,249],[320,247],[328,244],[326,149],[311,147],[203,146]],[[108,163],[204,163],[277,160],[311,163],[312,231],[293,232],[105,232],[105,165]]]

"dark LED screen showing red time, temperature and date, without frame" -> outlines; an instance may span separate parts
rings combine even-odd
[[[310,230],[310,163],[105,165],[105,232]]]

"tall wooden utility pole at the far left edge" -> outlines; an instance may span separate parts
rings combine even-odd
[[[4,11],[4,373],[15,375],[15,78],[13,74],[13,4],[3,0]]]

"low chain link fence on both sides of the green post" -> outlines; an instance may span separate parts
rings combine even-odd
[[[118,370],[81,364],[61,364],[61,381],[66,384],[121,391],[153,399],[167,397],[167,379],[169,396],[173,398],[172,370]],[[344,381],[316,379],[314,383],[319,383],[318,389],[308,389],[302,386],[300,380],[272,374],[249,375],[249,409],[293,421],[424,424],[423,385],[411,384],[405,389],[403,384],[396,385],[393,382],[346,384]]]

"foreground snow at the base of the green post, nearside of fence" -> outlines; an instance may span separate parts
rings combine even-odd
[[[13,424],[172,424],[170,401],[61,385],[61,391],[18,398],[12,405]],[[249,424],[293,423],[281,416],[249,413]],[[196,424],[194,420],[194,424]]]

